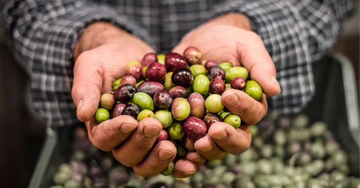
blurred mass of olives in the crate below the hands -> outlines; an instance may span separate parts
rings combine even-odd
[[[358,188],[348,176],[346,153],[323,122],[278,116],[251,126],[252,145],[241,155],[208,160],[189,178],[162,174],[143,178],[111,152],[91,145],[84,128],[75,131],[73,153],[61,164],[51,188]]]

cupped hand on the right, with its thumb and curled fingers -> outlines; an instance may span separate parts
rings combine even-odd
[[[239,155],[250,147],[249,125],[256,124],[266,115],[266,95],[280,93],[274,63],[260,37],[251,31],[249,20],[237,13],[223,15],[193,29],[173,51],[183,53],[189,46],[201,50],[203,59],[245,67],[251,79],[264,90],[259,101],[240,90],[225,91],[222,102],[231,113],[240,116],[240,127],[234,129],[226,123],[214,123],[208,134],[195,142],[196,151],[206,159],[222,159],[227,153]]]

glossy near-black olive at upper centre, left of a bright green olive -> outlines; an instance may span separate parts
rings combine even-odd
[[[171,82],[176,86],[188,87],[194,82],[194,75],[188,68],[174,70],[171,75]]]

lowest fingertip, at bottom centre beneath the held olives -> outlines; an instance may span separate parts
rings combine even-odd
[[[180,159],[176,161],[174,176],[176,178],[186,178],[194,174],[197,170],[197,166],[186,159]]]

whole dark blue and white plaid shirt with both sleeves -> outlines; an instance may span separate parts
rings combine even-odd
[[[158,52],[191,29],[230,12],[251,20],[275,63],[282,93],[269,110],[297,113],[315,92],[311,63],[337,40],[351,0],[2,0],[0,23],[31,77],[35,110],[48,125],[78,122],[71,97],[72,51],[84,28],[105,20]]]

